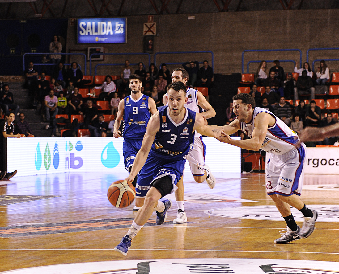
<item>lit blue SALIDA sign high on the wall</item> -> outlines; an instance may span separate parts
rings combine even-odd
[[[78,19],[78,44],[127,43],[127,18]]]

